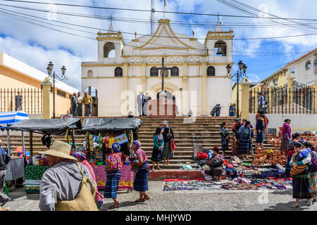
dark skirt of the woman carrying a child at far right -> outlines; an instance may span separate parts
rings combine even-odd
[[[309,174],[307,173],[307,170],[302,172],[302,174],[293,176],[293,198],[311,198],[311,191],[309,188]]]

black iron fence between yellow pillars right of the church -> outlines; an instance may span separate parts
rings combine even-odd
[[[264,103],[259,105],[259,93]],[[292,86],[273,87],[271,89],[251,89],[249,93],[249,113],[256,113],[262,106],[267,114],[316,114],[314,107],[316,91],[313,87],[298,82]]]

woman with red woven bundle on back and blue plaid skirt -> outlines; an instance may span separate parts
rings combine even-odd
[[[113,143],[111,154],[106,158],[106,186],[104,187],[104,198],[112,198],[114,205],[111,209],[120,207],[117,199],[118,185],[121,178],[122,153],[120,153],[120,145]]]

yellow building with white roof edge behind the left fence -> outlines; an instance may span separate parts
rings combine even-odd
[[[29,115],[43,113],[43,94],[41,82],[47,77],[30,65],[17,60],[6,53],[0,53],[0,112],[15,111],[15,96],[20,92],[23,96],[22,110]],[[56,117],[68,114],[70,108],[70,96],[77,89],[57,82],[55,88]],[[53,88],[51,88],[51,93]],[[53,94],[50,94],[53,108]]]

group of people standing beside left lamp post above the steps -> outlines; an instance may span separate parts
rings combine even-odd
[[[73,117],[82,117],[82,104],[84,104],[84,115],[85,117],[90,117],[92,116],[92,103],[92,96],[89,96],[87,92],[84,93],[84,97],[80,95],[80,92],[78,92],[77,94],[74,92],[73,96],[70,98],[70,113],[73,114]]]

